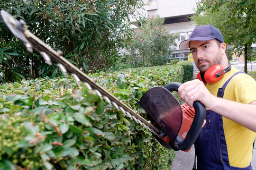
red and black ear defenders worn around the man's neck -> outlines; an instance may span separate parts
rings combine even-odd
[[[215,64],[211,66],[206,72],[201,74],[200,72],[197,74],[196,79],[201,80],[203,83],[209,83],[210,85],[218,82],[225,73],[231,70],[231,64],[229,63],[229,67],[223,68],[219,64]]]

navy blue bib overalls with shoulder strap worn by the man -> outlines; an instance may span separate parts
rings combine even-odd
[[[233,76],[237,75],[237,72]],[[223,98],[227,82],[219,88],[218,97]],[[229,164],[229,155],[227,150],[226,139],[223,130],[222,116],[214,111],[207,110],[206,124],[195,142],[195,151],[197,155],[198,170],[252,170],[251,165],[246,168],[232,167]],[[221,160],[222,159],[222,160]]]

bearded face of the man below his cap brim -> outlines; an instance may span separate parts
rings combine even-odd
[[[191,41],[189,46],[195,64],[201,73],[204,73],[215,64],[221,65],[223,59],[222,49],[215,39],[209,41]]]

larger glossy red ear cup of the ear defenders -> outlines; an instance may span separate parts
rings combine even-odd
[[[205,81],[209,84],[214,84],[218,82],[224,76],[224,74],[219,77],[217,77],[216,74],[221,72],[222,70],[224,70],[224,68],[219,64],[211,66],[204,74]]]

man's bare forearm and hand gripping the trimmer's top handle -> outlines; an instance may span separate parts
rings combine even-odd
[[[190,107],[193,107],[194,101],[200,101],[206,110],[215,111],[256,132],[256,101],[243,104],[215,97],[197,79],[183,83],[178,89],[178,95]]]

